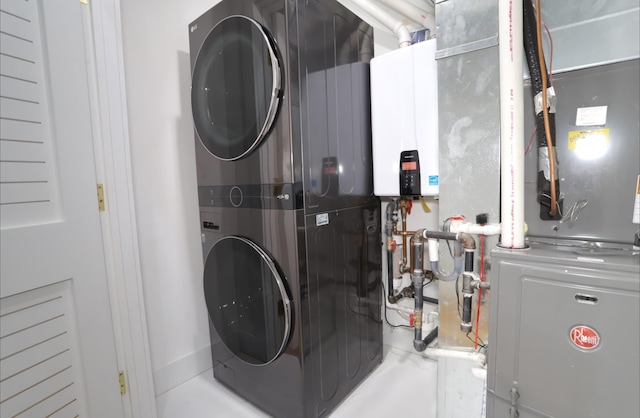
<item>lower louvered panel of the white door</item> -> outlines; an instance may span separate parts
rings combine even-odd
[[[10,296],[1,302],[2,416],[40,418],[58,410],[65,410],[66,416],[77,415],[79,389],[73,367],[77,348],[69,283]]]

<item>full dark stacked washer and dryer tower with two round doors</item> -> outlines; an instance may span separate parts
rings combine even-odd
[[[214,376],[325,416],[382,361],[371,28],[332,0],[223,0],[189,34]]]

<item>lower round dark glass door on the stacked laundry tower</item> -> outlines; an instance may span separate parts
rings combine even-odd
[[[275,261],[251,240],[228,236],[204,267],[209,318],[224,345],[253,365],[274,361],[292,330],[291,298]]]

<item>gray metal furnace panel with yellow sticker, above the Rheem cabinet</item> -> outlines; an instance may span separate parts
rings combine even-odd
[[[540,219],[536,202],[538,153],[534,140],[525,157],[525,221],[529,235],[631,244],[640,229],[640,225],[632,222],[640,175],[639,61],[554,74],[553,80],[558,98],[556,151],[565,219],[563,222]],[[525,96],[528,140],[535,120],[528,85]],[[592,122],[598,125],[579,120],[580,110],[593,108],[606,109],[606,120]],[[576,143],[581,137],[586,145],[595,147],[581,152]],[[572,206],[577,210],[572,212]]]

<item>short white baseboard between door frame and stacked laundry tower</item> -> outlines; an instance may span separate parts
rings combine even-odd
[[[210,369],[211,365],[211,346],[206,346],[154,371],[156,397]]]

